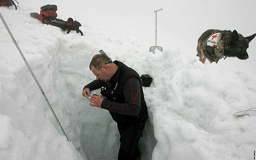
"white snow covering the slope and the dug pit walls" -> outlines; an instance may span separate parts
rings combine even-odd
[[[95,79],[91,58],[101,49],[153,77],[144,88],[149,120],[139,142],[142,160],[253,159],[256,117],[232,115],[256,107],[256,39],[247,49],[249,59],[218,64],[200,62],[196,46],[207,29],[254,34],[255,0],[19,3],[18,10],[1,6],[0,12],[69,141],[1,22],[1,160],[117,160],[116,123],[82,96],[82,88]],[[58,6],[57,18],[79,21],[84,36],[29,15],[47,4]],[[152,54],[159,8],[157,44],[164,50]]]

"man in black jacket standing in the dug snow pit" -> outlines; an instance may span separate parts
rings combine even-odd
[[[119,61],[97,54],[90,63],[96,80],[87,84],[83,96],[101,88],[101,95],[91,95],[90,106],[104,108],[117,122],[120,133],[118,160],[140,160],[138,148],[141,132],[148,117],[139,74]]]

